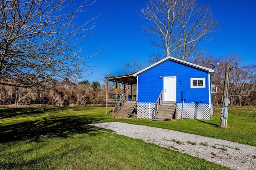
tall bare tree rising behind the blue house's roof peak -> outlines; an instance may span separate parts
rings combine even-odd
[[[148,35],[160,39],[153,45],[165,49],[167,57],[172,53],[182,60],[192,57],[219,26],[210,7],[197,0],[149,0],[139,15],[148,20],[144,27]]]

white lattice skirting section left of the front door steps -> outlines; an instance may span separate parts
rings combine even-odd
[[[137,117],[144,119],[154,119],[155,103],[137,103]]]

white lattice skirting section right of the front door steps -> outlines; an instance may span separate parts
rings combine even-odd
[[[182,103],[177,104],[177,118],[184,119],[210,119],[211,104],[184,103],[182,114]]]

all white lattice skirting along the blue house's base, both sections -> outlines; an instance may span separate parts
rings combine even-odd
[[[182,113],[183,106],[183,113]],[[144,119],[154,119],[155,103],[138,102],[137,117]],[[212,116],[212,104],[177,104],[177,118],[184,119],[210,119]]]

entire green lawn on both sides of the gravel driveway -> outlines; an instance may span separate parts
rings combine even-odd
[[[156,122],[112,119],[111,114],[105,114],[105,107],[0,109],[0,169],[228,169],[88,125],[121,121],[256,146],[253,112],[234,108],[228,127],[222,129],[218,128],[219,117]]]

